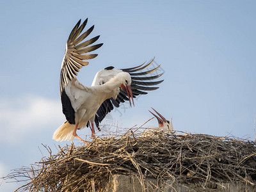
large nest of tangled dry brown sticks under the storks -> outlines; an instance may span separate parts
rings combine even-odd
[[[138,177],[144,190],[149,179],[157,180],[156,189],[166,180],[252,185],[256,180],[255,142],[239,138],[163,131],[139,135],[130,130],[98,137],[89,145],[60,147],[56,155],[46,148],[49,157],[5,178],[26,180],[16,191],[102,191],[115,174]]]

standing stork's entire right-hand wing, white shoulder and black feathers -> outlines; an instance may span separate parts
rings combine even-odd
[[[122,69],[115,69],[114,67],[106,67],[95,75],[93,79],[92,86],[99,86],[109,81],[109,79],[116,76],[116,74],[122,73],[122,72],[128,72],[131,76],[132,83],[131,83],[131,90],[132,95],[134,98],[138,95],[145,95],[147,94],[147,91],[157,90],[159,87],[152,87],[154,85],[157,85],[159,83],[162,83],[164,80],[161,81],[152,81],[154,79],[157,79],[158,77],[162,76],[161,74],[153,74],[152,76],[145,76],[147,74],[152,74],[154,72],[157,72],[159,67],[161,65],[158,65],[155,68],[152,68],[150,70],[147,70],[145,72],[138,72],[145,68],[151,67],[154,59],[150,62],[143,63],[142,65],[139,65],[137,67],[132,68],[122,68]],[[116,99],[110,98],[104,100],[100,108],[97,110],[97,113],[90,118],[90,122],[93,125],[94,124],[99,128],[100,122],[105,118],[105,116],[114,109],[114,107],[118,108],[120,106],[121,102],[125,102],[125,100],[129,100],[127,98],[127,93],[125,90],[120,90],[120,93],[117,95]],[[131,105],[131,102],[130,102]],[[88,124],[89,125],[89,124]]]

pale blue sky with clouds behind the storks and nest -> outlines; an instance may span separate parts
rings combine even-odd
[[[79,72],[81,83],[109,65],[134,67],[154,56],[164,70],[160,88],[113,111],[113,124],[141,125],[153,107],[173,116],[179,131],[254,140],[255,8],[255,1],[1,1],[0,177],[47,156],[41,143],[54,152],[70,143],[51,139],[65,121],[60,66],[70,31],[87,17],[90,37],[104,45]],[[0,180],[1,191],[19,185]]]

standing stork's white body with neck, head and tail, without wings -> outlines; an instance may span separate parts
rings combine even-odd
[[[131,76],[127,72],[116,75],[107,83],[100,86],[83,86],[76,78],[72,79],[72,81],[65,86],[65,93],[74,109],[76,124],[65,122],[54,132],[52,138],[56,141],[63,141],[73,140],[74,137],[77,137],[79,140],[83,141],[77,136],[76,130],[82,129],[87,125],[88,120],[95,116],[95,113],[104,100],[111,97],[116,99],[120,92],[120,87],[128,87],[127,92],[131,93],[131,91],[129,91],[130,84]],[[63,103],[63,105],[67,106],[65,103]],[[94,127],[92,126],[92,136],[93,134]]]

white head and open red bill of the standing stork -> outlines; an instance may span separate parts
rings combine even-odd
[[[120,87],[122,88],[123,91],[126,90],[129,102],[130,102],[130,106],[134,106],[134,100],[133,100],[133,96],[132,96],[132,90],[131,90],[131,83],[132,83],[132,79],[129,73],[127,72],[120,72],[120,74],[117,75],[118,79],[120,79]],[[131,100],[132,100],[132,104],[131,104]]]

